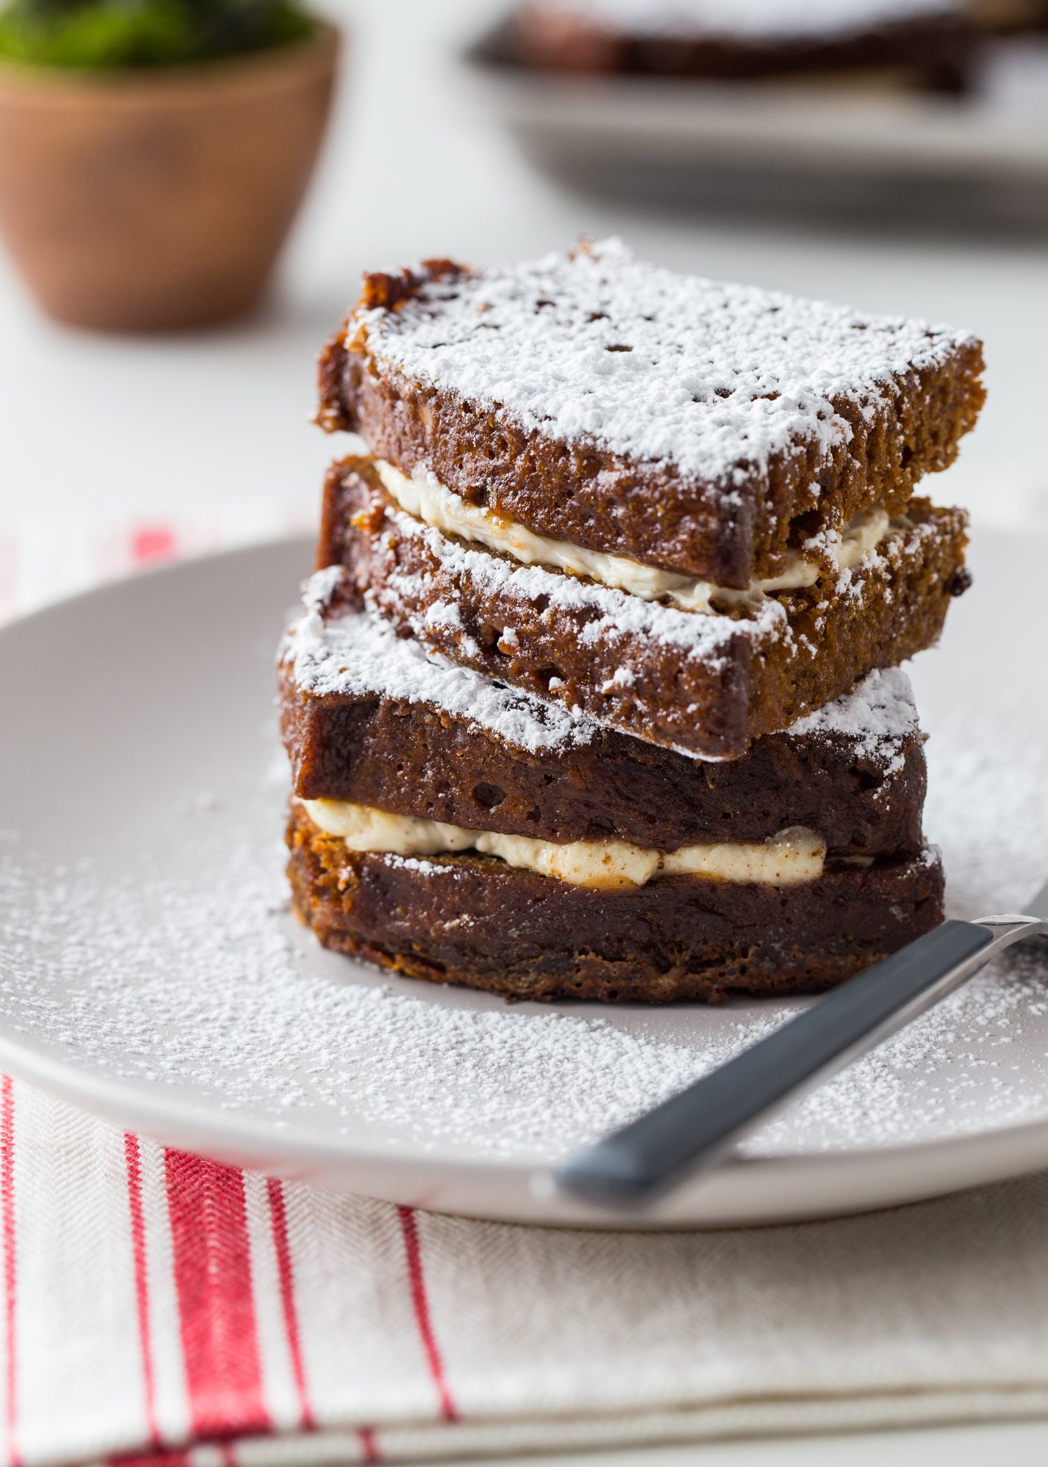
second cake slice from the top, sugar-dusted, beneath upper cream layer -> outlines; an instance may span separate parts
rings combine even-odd
[[[700,758],[735,758],[939,637],[966,516],[914,499],[863,563],[781,593],[752,619],[643,601],[470,549],[396,509],[368,459],[327,477],[320,568],[402,634],[596,722]]]

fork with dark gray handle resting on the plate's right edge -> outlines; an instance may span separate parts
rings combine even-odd
[[[1048,936],[1048,883],[1025,915],[947,921],[850,978],[768,1039],[555,1168],[556,1187],[643,1207],[713,1166],[774,1111],[815,1089],[953,993],[994,954]]]

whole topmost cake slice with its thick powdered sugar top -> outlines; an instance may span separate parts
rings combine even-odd
[[[980,373],[980,343],[950,327],[603,241],[365,276],[321,356],[319,421],[539,534],[744,588],[947,468]]]

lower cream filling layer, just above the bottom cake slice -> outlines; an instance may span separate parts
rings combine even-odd
[[[351,851],[402,857],[478,851],[498,855],[506,866],[556,876],[571,886],[644,886],[655,876],[798,886],[815,880],[826,858],[826,842],[804,826],[790,826],[759,844],[683,845],[663,852],[630,841],[533,841],[495,830],[465,830],[343,800],[302,800],[301,804],[316,826],[341,836]]]

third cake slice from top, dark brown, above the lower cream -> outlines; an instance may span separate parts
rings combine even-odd
[[[818,830],[831,855],[922,846],[923,741],[909,679],[897,669],[870,673],[854,694],[829,706],[828,719],[807,719],[803,734],[769,734],[740,758],[709,764],[592,720],[586,742],[508,741],[454,692],[458,679],[490,687],[487,679],[455,667],[430,669],[437,673],[430,688],[439,687],[440,673],[452,684],[446,700],[412,697],[395,672],[379,691],[376,645],[392,641],[398,650],[424,653],[365,613],[336,619],[330,643],[321,623],[324,647],[343,675],[341,692],[317,692],[317,660],[298,645],[299,638],[316,638],[305,622],[289,631],[280,659],[282,735],[292,789],[302,800],[345,800],[539,841],[619,839],[659,851],[766,841],[787,826]],[[324,678],[323,685],[330,689],[335,681]],[[451,703],[458,706],[452,710]]]

